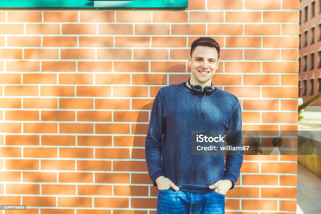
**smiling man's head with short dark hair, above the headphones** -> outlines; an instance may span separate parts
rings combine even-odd
[[[192,85],[209,86],[219,65],[220,46],[210,37],[200,37],[192,43],[188,63]]]

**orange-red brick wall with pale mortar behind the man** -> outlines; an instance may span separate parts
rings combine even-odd
[[[152,101],[187,80],[199,36],[221,45],[213,84],[238,96],[244,130],[297,129],[299,0],[188,5],[0,11],[0,204],[155,214],[144,159]],[[245,156],[226,213],[294,212],[296,160]]]

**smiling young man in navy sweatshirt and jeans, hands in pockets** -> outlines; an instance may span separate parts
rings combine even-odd
[[[189,81],[160,89],[155,97],[145,154],[157,186],[157,213],[224,213],[225,193],[239,178],[242,155],[192,156],[192,131],[241,130],[241,108],[233,94],[212,86],[220,46],[210,37],[191,45]],[[163,136],[163,138],[162,138]]]

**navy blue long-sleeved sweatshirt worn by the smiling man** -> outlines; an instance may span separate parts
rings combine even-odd
[[[211,95],[196,95],[186,83],[161,88],[152,106],[145,143],[154,186],[159,176],[165,176],[181,191],[212,192],[208,186],[224,179],[232,181],[233,189],[243,155],[226,155],[225,170],[223,152],[192,156],[192,131],[241,128],[241,107],[233,94],[215,87]]]

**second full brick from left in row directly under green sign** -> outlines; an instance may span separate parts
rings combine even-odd
[[[49,12],[43,13],[44,22],[78,22],[77,11]]]

